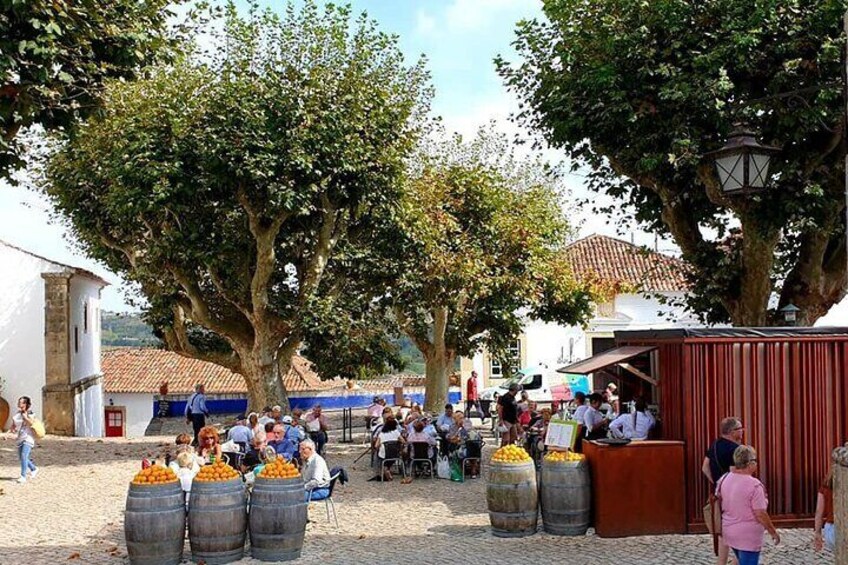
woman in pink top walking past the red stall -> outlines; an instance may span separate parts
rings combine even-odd
[[[780,543],[780,535],[766,512],[766,489],[754,477],[757,452],[740,445],[733,452],[733,465],[716,486],[716,495],[721,498],[721,536],[733,549],[739,565],[758,565],[763,533],[768,530],[776,544]]]

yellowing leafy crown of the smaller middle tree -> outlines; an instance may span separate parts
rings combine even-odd
[[[504,352],[525,315],[584,320],[591,295],[561,253],[569,227],[557,171],[517,158],[492,131],[470,143],[435,139],[417,155],[405,195],[408,239],[391,296],[403,331],[425,357],[443,334],[452,366],[483,345]]]

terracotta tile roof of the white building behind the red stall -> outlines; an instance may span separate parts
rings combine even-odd
[[[590,235],[565,248],[581,281],[600,279],[648,292],[685,292],[686,263],[604,235]]]

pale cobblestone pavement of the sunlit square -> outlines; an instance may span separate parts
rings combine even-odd
[[[0,564],[126,563],[122,512],[127,483],[144,457],[161,457],[171,436],[136,440],[49,438],[35,450],[38,478],[18,485],[14,441],[0,440]],[[404,485],[367,482],[368,457],[356,465],[361,444],[328,446],[331,466],[342,465],[352,482],[336,492],[340,526],[313,503],[298,563],[457,563],[621,565],[711,564],[709,537],[650,536],[564,538],[541,531],[522,539],[491,535],[485,481],[417,479]],[[487,446],[484,457],[493,447]],[[783,530],[767,545],[764,564],[833,563],[810,548],[808,530]],[[188,556],[186,544],[186,556]],[[259,563],[246,558],[240,563]]]

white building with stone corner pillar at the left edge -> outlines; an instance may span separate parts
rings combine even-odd
[[[100,291],[109,283],[3,241],[0,273],[0,376],[12,412],[29,396],[48,433],[102,436]]]

